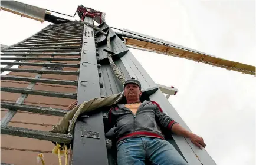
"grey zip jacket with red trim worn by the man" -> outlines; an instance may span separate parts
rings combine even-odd
[[[110,127],[114,127],[116,143],[126,138],[141,136],[164,139],[157,124],[171,130],[173,124],[176,123],[163,113],[155,101],[143,101],[136,114],[133,114],[124,104],[117,104],[110,109],[108,118]]]

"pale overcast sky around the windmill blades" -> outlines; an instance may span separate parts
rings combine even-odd
[[[254,1],[21,1],[73,15],[83,4],[126,28],[255,66]],[[0,43],[15,44],[48,22],[1,11]],[[255,164],[255,77],[177,57],[130,49],[157,84],[178,88],[170,103],[202,136],[216,164]]]

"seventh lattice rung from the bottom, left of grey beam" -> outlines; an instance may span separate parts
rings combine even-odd
[[[0,60],[80,61],[80,58],[0,57]]]

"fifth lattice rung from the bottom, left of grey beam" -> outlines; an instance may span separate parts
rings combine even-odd
[[[10,72],[32,72],[38,74],[60,74],[60,75],[79,75],[79,71],[55,71],[55,70],[29,70],[29,69],[19,69],[19,68],[1,68],[2,71]]]

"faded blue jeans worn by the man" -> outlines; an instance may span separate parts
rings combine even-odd
[[[166,140],[152,137],[127,138],[117,144],[118,165],[188,165],[178,151]]]

